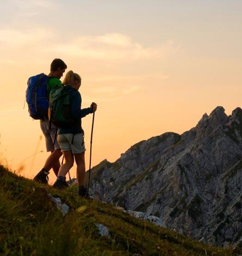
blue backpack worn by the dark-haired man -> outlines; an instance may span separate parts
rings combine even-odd
[[[29,115],[33,119],[47,119],[49,101],[47,99],[48,76],[41,73],[29,77],[26,90]]]

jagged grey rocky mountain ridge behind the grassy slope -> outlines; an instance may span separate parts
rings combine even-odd
[[[90,194],[160,217],[167,228],[216,246],[242,241],[242,109],[204,114],[91,170]]]

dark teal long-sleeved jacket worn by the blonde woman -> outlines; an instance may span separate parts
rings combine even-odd
[[[90,107],[81,109],[82,97],[80,96],[78,90],[73,89],[71,86],[66,86],[66,88],[70,89],[70,107],[74,122],[73,125],[69,128],[59,128],[58,134],[83,133],[84,131],[82,129],[82,118],[88,114],[91,114],[92,109]]]

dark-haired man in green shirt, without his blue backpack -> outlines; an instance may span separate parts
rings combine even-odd
[[[47,82],[47,99],[49,100],[49,94],[51,90],[61,84],[60,78],[63,76],[67,66],[61,59],[54,59],[51,63],[51,72],[48,75]],[[49,170],[52,168],[55,175],[58,176],[60,161],[59,158],[62,155],[60,150],[60,145],[56,139],[57,127],[51,124],[49,126],[48,118],[40,120],[41,131],[45,136],[46,150],[51,152],[51,155],[47,158],[44,167],[40,172],[34,177],[35,181],[41,182],[43,184],[48,184],[48,174]],[[51,129],[49,129],[51,128]]]

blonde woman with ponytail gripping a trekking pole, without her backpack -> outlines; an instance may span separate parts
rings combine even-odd
[[[58,129],[57,139],[60,144],[61,152],[63,152],[65,163],[60,167],[58,178],[54,182],[53,187],[62,189],[68,186],[65,181],[65,176],[73,166],[75,159],[77,164],[78,194],[79,196],[85,197],[87,192],[84,186],[85,145],[81,118],[94,113],[97,109],[97,105],[93,102],[88,108],[80,108],[82,98],[78,89],[80,88],[81,78],[72,70],[67,72],[63,84],[65,85],[65,89],[69,91],[70,111],[73,121],[69,127],[61,127]]]

